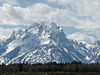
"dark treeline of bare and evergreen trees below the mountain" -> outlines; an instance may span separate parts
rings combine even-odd
[[[100,64],[83,64],[81,62],[2,64],[0,65],[0,72],[100,72]]]

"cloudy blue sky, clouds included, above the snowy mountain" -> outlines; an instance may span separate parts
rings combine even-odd
[[[0,0],[0,39],[15,27],[55,22],[69,39],[100,40],[100,0]]]

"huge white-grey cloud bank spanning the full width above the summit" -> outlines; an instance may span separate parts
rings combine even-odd
[[[13,6],[19,3],[17,0],[14,0],[15,4],[9,1],[12,0],[4,0],[3,6],[0,7],[0,24],[30,25],[41,21],[55,22],[59,26],[72,26],[84,32],[99,34],[95,32],[100,31],[100,0],[48,0],[49,4],[54,3],[64,8],[43,2],[22,8]]]

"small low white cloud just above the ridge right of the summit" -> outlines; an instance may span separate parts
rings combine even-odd
[[[84,33],[74,33],[74,34],[69,34],[67,35],[67,38],[73,39],[79,42],[86,42],[88,44],[94,43],[96,41],[95,38],[88,36],[87,34]]]

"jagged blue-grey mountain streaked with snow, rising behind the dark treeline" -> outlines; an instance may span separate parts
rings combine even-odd
[[[67,39],[55,23],[34,23],[29,29],[17,29],[0,43],[0,50],[0,64],[65,63],[74,60],[86,63],[93,58],[85,44]]]

